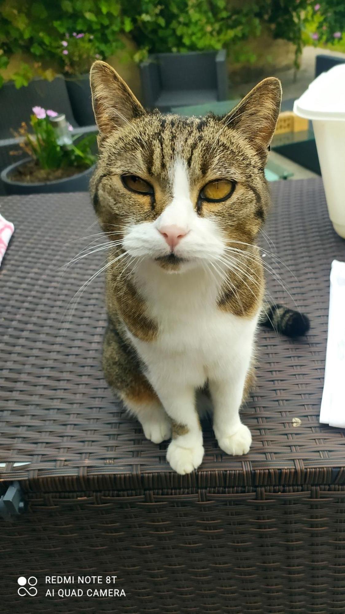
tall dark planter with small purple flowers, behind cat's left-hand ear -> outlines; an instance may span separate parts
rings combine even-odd
[[[61,55],[73,115],[79,126],[90,126],[95,123],[95,116],[92,110],[89,71],[93,61],[101,60],[101,55],[96,53],[93,34],[65,34],[61,41]]]

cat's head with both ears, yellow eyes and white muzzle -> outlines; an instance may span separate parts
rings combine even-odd
[[[91,90],[100,133],[91,195],[110,239],[167,271],[226,260],[228,246],[253,243],[269,206],[264,168],[279,80],[260,82],[225,117],[146,112],[101,61]]]

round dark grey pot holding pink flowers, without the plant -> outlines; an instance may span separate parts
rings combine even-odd
[[[95,170],[95,165],[90,166],[82,173],[73,175],[72,177],[66,177],[65,179],[58,179],[58,181],[48,181],[39,184],[25,184],[20,181],[11,181],[9,179],[10,174],[17,166],[23,165],[28,162],[30,158],[25,158],[20,162],[16,162],[10,166],[7,166],[1,173],[1,181],[4,184],[4,189],[7,196],[12,194],[36,194],[36,193],[52,193],[52,192],[87,192],[88,184]]]

